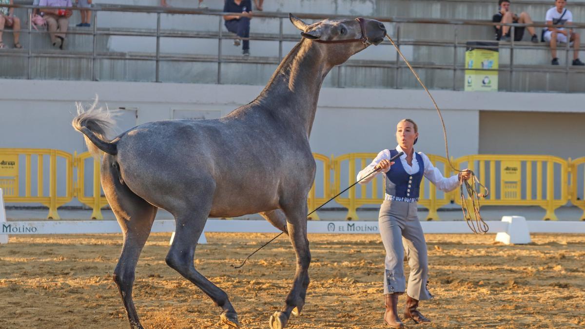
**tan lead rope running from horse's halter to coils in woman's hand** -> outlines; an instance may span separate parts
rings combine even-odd
[[[433,98],[433,96],[431,95],[431,92],[429,92],[429,90],[426,89],[425,84],[422,83],[421,78],[418,77],[417,72],[414,70],[414,68],[412,68],[410,63],[408,63],[408,60],[404,57],[404,55],[402,54],[400,49],[398,49],[398,47],[394,43],[394,40],[392,40],[392,38],[389,35],[386,35],[386,37],[388,38],[388,40],[390,40],[390,42],[392,43],[392,45],[394,46],[394,48],[396,49],[398,54],[400,54],[400,57],[402,57],[402,60],[404,60],[404,63],[406,63],[408,68],[410,68],[410,70],[412,71],[412,74],[414,74],[415,78],[417,78],[418,83],[421,84],[422,88],[425,89],[426,93],[431,98],[433,105],[435,105],[437,113],[439,114],[439,118],[441,119],[441,125],[443,126],[443,138],[445,138],[445,153],[447,154],[447,161],[449,162],[449,166],[451,166],[451,168],[453,170],[455,170],[455,172],[461,173],[462,170],[456,169],[455,166],[453,166],[453,163],[451,163],[451,160],[449,159],[449,146],[447,143],[447,129],[445,128],[445,121],[443,121],[443,116],[441,115],[441,110],[439,109],[438,105],[436,104],[435,98]],[[480,197],[483,197],[483,198],[487,197],[489,194],[489,191],[487,190],[487,188],[483,184],[480,183],[479,179],[477,179],[475,173],[472,170],[469,170],[469,172],[472,174],[472,177],[469,179],[470,181],[463,180],[461,178],[461,175],[459,175],[459,181],[461,183],[461,186],[460,186],[461,210],[463,211],[463,216],[465,218],[465,221],[467,222],[467,226],[469,226],[469,228],[472,230],[472,232],[474,232],[475,234],[477,234],[479,232],[481,232],[482,234],[486,234],[487,231],[490,229],[490,227],[488,227],[487,223],[483,220],[483,218],[481,218],[481,215],[479,213],[479,208],[480,208],[479,198]],[[469,205],[467,204],[467,198],[465,197],[465,194],[463,192],[463,186],[465,186],[465,189],[467,190],[467,195],[471,199],[471,205],[473,208],[473,216],[471,215],[471,213],[469,211]],[[477,193],[477,191],[480,190],[481,188],[484,189],[485,193]]]

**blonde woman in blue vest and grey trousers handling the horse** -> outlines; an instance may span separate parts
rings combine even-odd
[[[386,249],[386,270],[384,273],[384,299],[386,313],[384,322],[392,328],[402,328],[404,324],[398,317],[398,296],[407,293],[404,318],[415,323],[430,322],[418,310],[420,300],[432,298],[426,287],[428,264],[425,236],[417,215],[417,202],[422,177],[426,177],[439,190],[448,192],[459,187],[463,180],[470,178],[470,172],[463,170],[459,175],[443,177],[432,165],[428,156],[414,152],[418,140],[418,126],[412,119],[403,119],[396,126],[395,149],[385,149],[357,174],[357,180],[367,176],[373,170],[386,175],[386,194],[380,207],[378,225],[384,248]],[[395,162],[391,157],[404,152]],[[367,177],[360,184],[366,184],[376,175]],[[404,249],[410,266],[408,290],[404,276]]]

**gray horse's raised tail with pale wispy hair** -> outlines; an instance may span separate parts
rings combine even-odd
[[[71,125],[75,130],[85,135],[87,148],[94,157],[99,159],[101,157],[99,150],[116,155],[118,154],[118,146],[116,146],[116,142],[111,142],[106,138],[107,133],[112,130],[116,121],[112,118],[111,112],[96,108],[97,104],[97,96],[94,104],[87,111],[80,103],[76,103],[77,116],[75,116]]]

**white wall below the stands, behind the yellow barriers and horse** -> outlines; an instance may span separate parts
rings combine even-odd
[[[81,134],[70,124],[74,103],[89,103],[95,94],[110,108],[136,108],[135,122],[128,115],[123,120],[122,128],[128,129],[134,123],[170,119],[174,109],[215,110],[225,115],[252,101],[261,89],[248,85],[0,80],[0,148],[82,152]],[[585,113],[580,94],[432,93],[442,108],[450,152],[455,157],[480,152],[479,111],[525,112],[528,116],[543,112],[541,120],[545,121],[548,116],[557,118],[557,112]],[[418,122],[419,150],[445,155],[441,123],[422,90],[324,88],[311,145],[314,152],[326,155],[377,152],[394,145],[395,123],[401,118]],[[566,119],[574,121],[571,116]],[[562,143],[567,136],[555,133],[549,138]]]

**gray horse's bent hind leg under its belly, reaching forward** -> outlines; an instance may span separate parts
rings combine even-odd
[[[221,313],[221,320],[223,323],[231,325],[232,327],[239,327],[238,314],[233,309],[232,303],[228,299],[228,294],[214,285],[207,277],[201,275],[194,265],[195,247],[199,236],[205,227],[205,222],[211,210],[211,201],[208,205],[201,206],[198,209],[188,209],[181,211],[180,214],[175,214],[176,231],[175,238],[171,249],[168,251],[166,258],[167,265],[175,269],[185,279],[194,283],[201,289],[209,298],[211,298],[216,306],[223,309]]]

